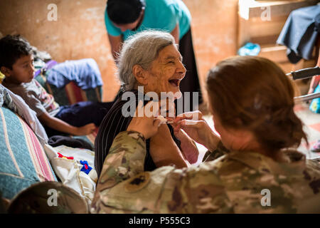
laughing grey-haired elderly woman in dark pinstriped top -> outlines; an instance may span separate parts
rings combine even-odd
[[[122,82],[122,93],[119,93],[102,121],[95,139],[95,168],[98,177],[112,141],[118,133],[127,130],[132,120],[127,106],[135,103],[135,108],[139,99],[146,100],[146,103],[149,97],[145,98],[144,93],[147,95],[152,92],[159,98],[161,92],[171,92],[175,95],[174,99],[181,96],[179,85],[186,74],[181,61],[181,54],[170,33],[143,31],[124,42],[117,72]],[[198,150],[193,140],[182,131],[174,135],[171,125],[161,125],[159,132],[146,140],[144,170],[151,171],[170,164],[186,167],[188,162],[194,163],[197,160]]]

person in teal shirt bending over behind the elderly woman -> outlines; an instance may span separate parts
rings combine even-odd
[[[183,111],[198,109],[203,102],[198,78],[196,58],[191,34],[191,14],[181,0],[108,0],[105,10],[105,25],[112,56],[117,63],[117,54],[122,43],[134,33],[147,29],[166,31],[174,36],[179,46],[186,77],[181,81],[183,100],[189,99]],[[190,92],[190,95],[185,95]],[[193,103],[193,93],[198,92],[198,105]]]

